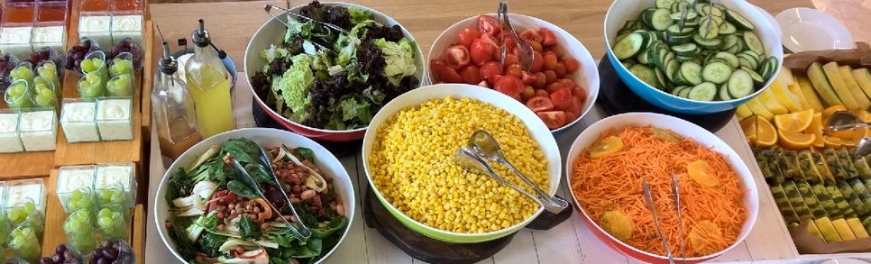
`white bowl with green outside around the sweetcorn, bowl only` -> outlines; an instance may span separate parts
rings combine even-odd
[[[428,100],[440,99],[448,96],[454,98],[474,98],[481,102],[504,109],[509,114],[516,115],[520,121],[527,126],[527,130],[530,132],[533,139],[538,142],[542,152],[545,154],[545,158],[549,161],[547,164],[547,174],[550,178],[550,186],[547,188],[546,192],[550,195],[556,193],[556,188],[559,187],[560,179],[563,175],[562,164],[560,163],[559,148],[556,146],[554,136],[551,135],[551,132],[547,129],[545,123],[542,122],[535,113],[532,113],[532,110],[529,110],[529,108],[520,104],[520,102],[514,98],[503,95],[496,90],[466,84],[439,84],[420,87],[390,101],[390,103],[384,105],[384,108],[381,108],[381,111],[378,112],[378,114],[375,114],[370,125],[371,129],[366,131],[366,136],[363,138],[362,146],[363,168],[365,168],[366,171],[366,179],[369,181],[369,187],[371,187],[381,204],[385,205],[388,211],[390,211],[390,214],[396,216],[400,222],[406,224],[406,226],[412,230],[436,240],[452,243],[475,243],[492,241],[517,232],[526,226],[527,223],[532,222],[532,220],[545,209],[539,208],[535,214],[532,214],[523,222],[514,224],[509,228],[500,231],[483,233],[447,232],[419,223],[411,217],[408,217],[408,215],[400,212],[395,206],[390,205],[390,202],[381,195],[378,187],[376,187],[372,181],[368,157],[371,156],[372,144],[374,143],[376,134],[378,133],[378,127],[387,121],[390,116],[397,114],[400,110],[406,107],[417,106]]]

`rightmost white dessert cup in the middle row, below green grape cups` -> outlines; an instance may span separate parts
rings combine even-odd
[[[130,97],[97,100],[96,126],[103,141],[133,140],[133,100]]]

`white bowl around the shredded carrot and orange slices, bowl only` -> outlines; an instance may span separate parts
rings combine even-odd
[[[720,154],[722,154],[726,161],[729,163],[731,168],[735,170],[738,178],[741,178],[741,183],[743,184],[743,191],[745,193],[743,201],[744,205],[747,207],[747,221],[744,223],[744,227],[741,229],[741,233],[738,235],[738,239],[724,250],[720,250],[719,252],[707,256],[686,258],[687,262],[698,263],[708,259],[716,258],[724,252],[735,248],[736,246],[738,246],[738,244],[740,244],[742,241],[744,241],[744,239],[747,238],[747,235],[750,233],[751,230],[753,230],[753,225],[756,223],[756,217],[759,214],[759,194],[756,189],[756,181],[754,181],[753,174],[750,173],[750,169],[747,168],[747,164],[744,163],[744,160],[742,160],[741,157],[738,156],[738,153],[736,153],[735,150],[732,150],[732,148],[729,147],[726,142],[720,140],[717,135],[708,132],[704,128],[701,128],[701,126],[689,123],[677,117],[653,113],[629,113],[612,115],[608,118],[600,120],[599,122],[593,123],[590,127],[581,132],[578,138],[575,139],[572,143],[572,149],[569,150],[568,158],[565,162],[565,177],[568,181],[569,189],[573,194],[572,199],[574,201],[574,205],[576,206],[576,208],[579,209],[579,211],[581,211],[582,220],[584,221],[584,223],[587,224],[587,226],[590,227],[591,231],[596,235],[596,237],[598,237],[601,241],[607,243],[611,248],[619,250],[622,253],[628,255],[629,257],[640,259],[646,262],[668,263],[667,257],[649,253],[644,250],[639,250],[623,241],[619,241],[618,239],[611,236],[610,233],[605,232],[603,229],[601,229],[601,227],[591,219],[590,214],[587,214],[587,212],[583,209],[581,203],[578,202],[578,197],[574,196],[574,190],[572,189],[574,161],[578,159],[582,151],[587,147],[591,146],[595,141],[599,140],[601,134],[612,130],[624,128],[629,125],[651,125],[658,128],[668,129],[685,138],[691,138],[692,140],[700,143],[703,146],[708,146],[709,148],[711,148],[711,150],[720,152]]]

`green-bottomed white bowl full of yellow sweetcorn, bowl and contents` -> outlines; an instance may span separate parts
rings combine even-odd
[[[478,129],[491,132],[515,167],[555,194],[560,152],[536,114],[488,88],[440,84],[397,97],[372,119],[362,151],[375,196],[399,222],[438,241],[475,243],[518,232],[544,209],[453,161]],[[509,170],[491,166],[531,193]]]

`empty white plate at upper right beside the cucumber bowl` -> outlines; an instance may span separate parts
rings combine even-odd
[[[793,52],[853,49],[853,35],[830,14],[797,7],[777,14],[776,20],[784,32],[781,41]]]

